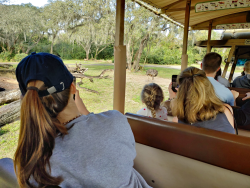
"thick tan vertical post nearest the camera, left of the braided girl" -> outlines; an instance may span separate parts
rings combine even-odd
[[[126,46],[124,40],[125,0],[116,0],[116,31],[114,46],[113,109],[124,113],[126,87]]]

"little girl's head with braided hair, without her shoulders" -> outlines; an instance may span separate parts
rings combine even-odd
[[[163,91],[160,86],[155,83],[147,84],[141,92],[141,100],[151,110],[152,116],[156,117],[156,111],[159,109],[164,99]]]

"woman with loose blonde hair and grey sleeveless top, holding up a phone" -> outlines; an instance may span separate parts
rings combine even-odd
[[[232,108],[216,96],[203,70],[189,67],[178,76],[176,94],[170,91],[172,113],[178,122],[235,134]]]

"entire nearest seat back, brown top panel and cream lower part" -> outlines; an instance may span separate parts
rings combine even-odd
[[[134,168],[154,188],[248,188],[250,138],[126,113]]]

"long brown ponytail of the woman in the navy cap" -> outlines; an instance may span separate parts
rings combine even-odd
[[[28,86],[44,88],[41,81],[31,81]],[[19,186],[34,187],[30,178],[39,187],[59,185],[63,179],[50,175],[49,159],[58,134],[67,134],[67,129],[57,120],[57,115],[68,104],[70,89],[40,98],[37,91],[28,90],[22,99],[21,122],[14,166]]]

